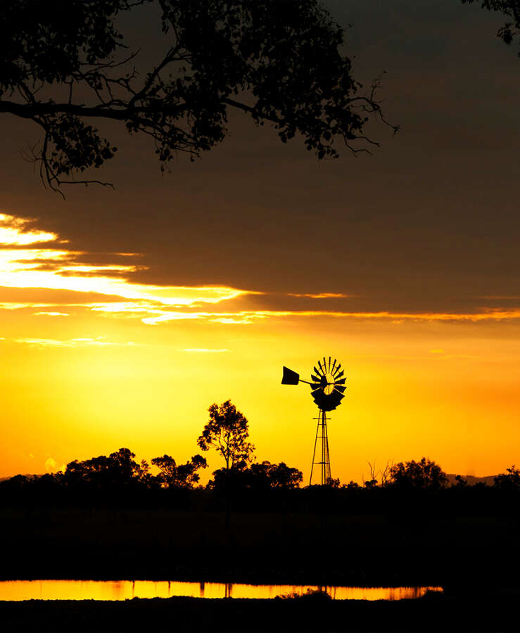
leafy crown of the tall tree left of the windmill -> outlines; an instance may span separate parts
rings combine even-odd
[[[226,469],[244,468],[253,459],[255,447],[249,438],[249,423],[247,419],[236,410],[231,400],[218,404],[212,404],[208,409],[210,419],[198,437],[197,444],[207,451],[210,447],[224,458]]]

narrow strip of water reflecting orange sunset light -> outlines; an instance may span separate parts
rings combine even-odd
[[[0,600],[129,600],[132,598],[276,598],[316,590],[310,584],[241,584],[169,580],[5,580]],[[442,587],[320,587],[335,600],[420,598]]]

